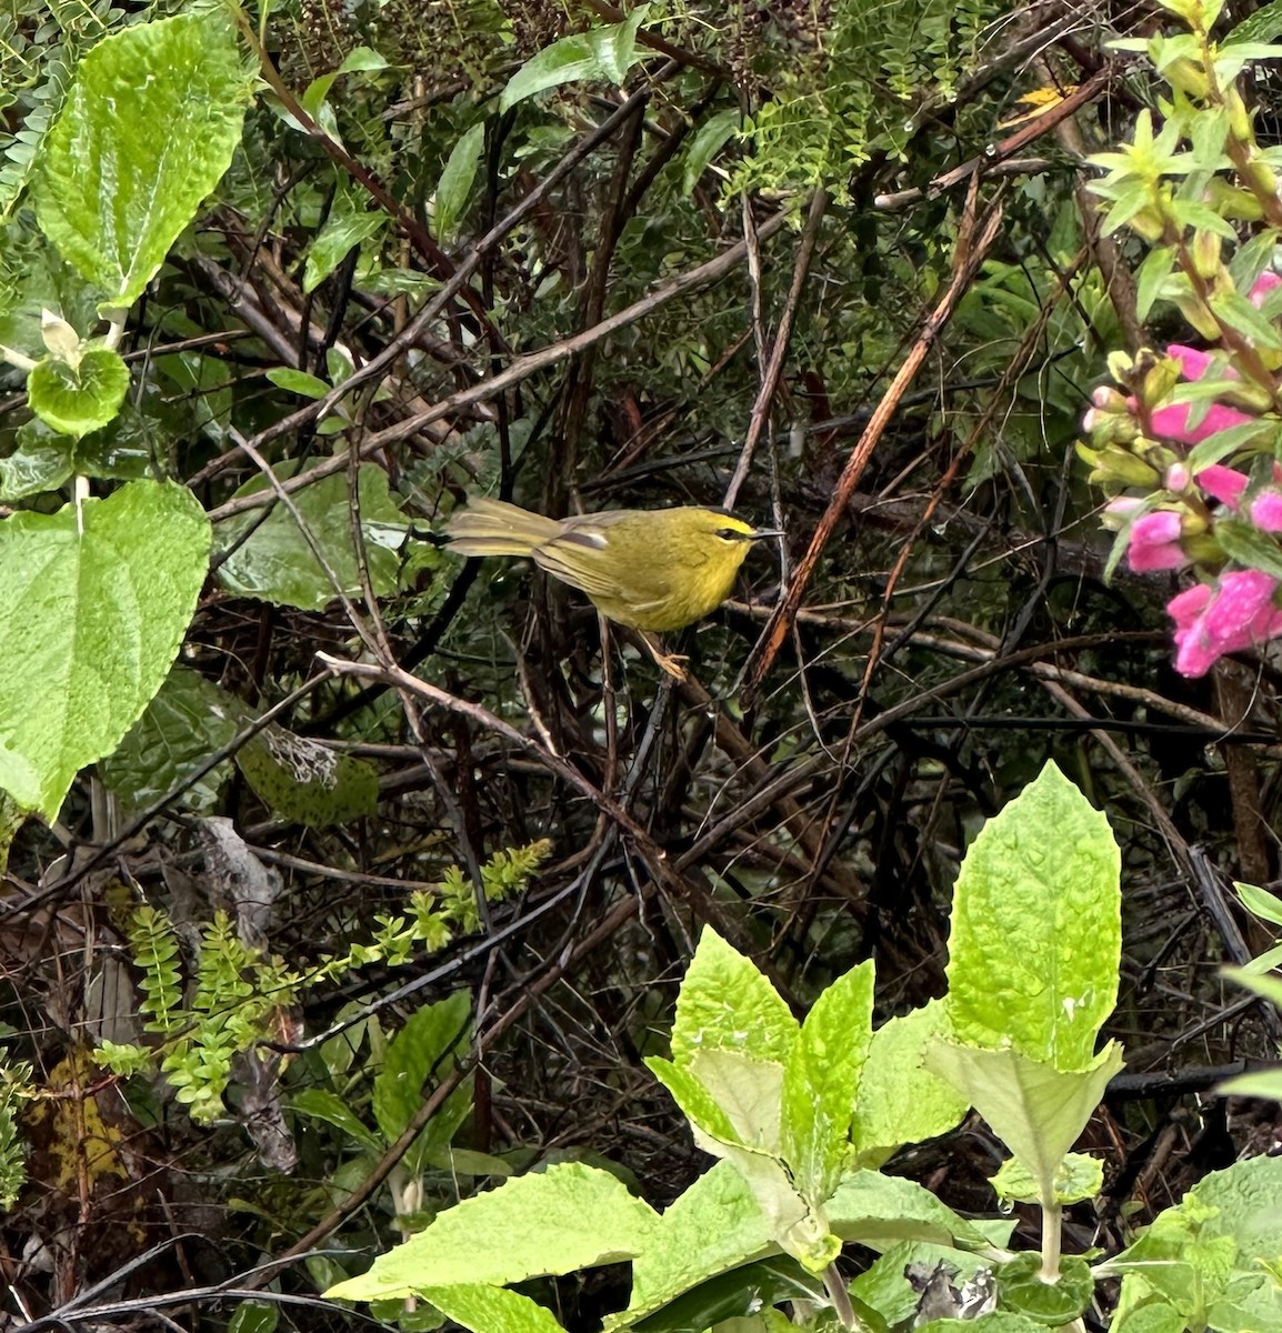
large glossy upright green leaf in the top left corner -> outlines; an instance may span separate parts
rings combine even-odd
[[[219,183],[251,91],[217,8],[127,28],[80,63],[41,149],[36,212],[105,305],[143,295]]]

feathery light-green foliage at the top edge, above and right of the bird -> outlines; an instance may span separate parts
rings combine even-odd
[[[748,35],[741,68],[773,95],[729,189],[841,193],[874,149],[900,153],[922,101],[954,96],[1001,11],[991,0],[838,0],[814,32]]]

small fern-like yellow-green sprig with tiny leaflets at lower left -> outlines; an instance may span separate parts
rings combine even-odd
[[[550,850],[552,844],[541,840],[497,852],[481,868],[486,901],[500,902],[520,893]],[[133,962],[143,973],[139,1008],[147,1016],[147,1030],[163,1040],[157,1050],[103,1042],[96,1058],[117,1074],[137,1073],[159,1060],[176,1100],[197,1124],[209,1124],[224,1113],[223,1094],[235,1058],[268,1040],[277,1014],[296,1004],[305,990],[338,981],[369,964],[409,962],[418,952],[444,948],[456,933],[476,930],[478,921],[472,885],[457,866],[450,866],[434,892],[410,894],[405,916],[376,916],[368,940],[300,972],[283,958],[245,945],[227,912],[216,912],[201,930],[200,952],[189,977],[191,1001],[184,1002],[188,986],[172,922],[157,908],[135,908],[128,937]],[[0,1172],[3,1148],[0,1126]],[[3,1178],[0,1174],[0,1184]]]

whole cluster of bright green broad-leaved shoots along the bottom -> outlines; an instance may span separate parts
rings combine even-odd
[[[1059,894],[1078,918],[1059,920],[1046,894]],[[1107,821],[1047,765],[966,857],[950,993],[876,1036],[869,964],[840,977],[798,1024],[752,961],[705,929],[677,1001],[672,1058],[646,1064],[696,1141],[720,1158],[712,1170],[661,1217],[642,1221],[638,1212],[628,1245],[576,1241],[594,1209],[616,1217],[609,1200],[618,1186],[608,1173],[553,1168],[513,1180],[440,1214],[329,1294],[440,1302],[485,1333],[552,1329],[546,1310],[496,1289],[630,1252],[632,1302],[606,1320],[608,1333],[641,1320],[710,1328],[798,1297],[830,1305],[853,1329],[910,1317],[918,1297],[905,1264],[944,1258],[966,1274],[991,1272],[1002,1304],[982,1326],[1027,1333],[1070,1324],[1090,1300],[1093,1274],[1083,1260],[1058,1257],[1058,1210],[1101,1181],[1098,1164],[1069,1149],[1118,1062],[1113,1048],[1093,1052],[1117,986],[1118,894]],[[1027,973],[1021,949],[1037,950],[1045,974]],[[1002,985],[1006,1030],[981,993],[985,966]],[[967,1222],[920,1185],[861,1165],[946,1132],[971,1101],[1010,1134],[1015,1157],[998,1184],[1042,1205],[1057,1237],[1050,1252],[1011,1256],[1009,1224]],[[486,1245],[496,1234],[521,1236],[518,1253]],[[885,1254],[849,1294],[832,1266],[848,1241]]]

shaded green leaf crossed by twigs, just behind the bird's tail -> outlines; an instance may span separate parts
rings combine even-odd
[[[283,464],[276,468],[276,475],[287,477],[292,471],[291,464]],[[267,481],[255,477],[236,493],[260,495],[265,488]],[[346,476],[334,473],[322,477],[296,492],[293,503],[325,564],[337,576],[341,591],[349,597],[358,597],[361,580],[352,543]],[[361,465],[360,503],[369,577],[374,592],[385,596],[396,591],[397,548],[405,539],[405,516],[388,491],[388,475],[372,463]],[[231,592],[303,611],[320,611],[338,596],[338,588],[326,576],[284,505],[277,504],[265,520],[259,513],[245,513],[219,524],[219,544],[235,545],[247,528],[253,528],[251,536],[219,568],[219,579]]]

